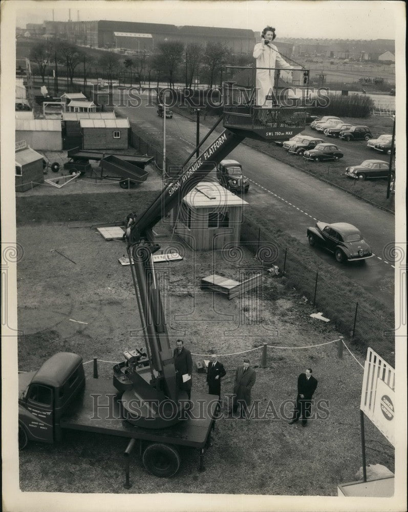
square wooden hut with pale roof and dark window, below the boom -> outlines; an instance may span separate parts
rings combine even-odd
[[[171,211],[171,224],[194,250],[238,245],[247,204],[218,183],[202,181],[183,198],[179,211]]]

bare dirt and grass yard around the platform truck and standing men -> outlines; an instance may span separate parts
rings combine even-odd
[[[78,191],[85,186],[76,185]],[[78,191],[70,200],[83,207],[87,197]],[[139,193],[143,190],[135,192],[136,201]],[[354,480],[361,466],[362,369],[346,350],[339,359],[336,344],[308,347],[331,342],[340,333],[330,322],[311,318],[312,308],[304,298],[295,289],[287,291],[280,278],[268,272],[261,290],[231,301],[201,291],[203,276],[219,273],[240,280],[241,272],[258,264],[245,251],[241,259],[232,253],[193,253],[172,235],[167,222],[155,230],[162,236],[157,241],[163,250],[183,255],[182,261],[156,266],[171,346],[177,338],[184,339],[195,361],[205,358],[195,354],[220,354],[227,370],[223,395],[231,393],[234,370],[243,358],[226,354],[264,343],[277,347],[268,349],[267,368],[259,367],[260,348],[248,353],[256,370],[252,399],[260,401],[261,414],[270,400],[273,410],[264,419],[218,420],[203,473],[198,472],[198,454],[185,450],[177,478],[158,481],[134,454],[134,486],[129,490],[122,486],[125,439],[69,432],[58,445],[31,443],[20,453],[21,489],[336,495],[336,485]],[[24,331],[19,371],[37,369],[58,351],[76,352],[85,362],[93,357],[120,361],[124,350],[144,346],[130,268],[118,262],[124,243],[104,241],[86,219],[20,225],[17,242],[24,247],[17,269],[18,328]],[[100,378],[111,379],[112,366],[100,362]],[[306,367],[313,368],[319,381],[315,399],[326,400],[329,412],[326,419],[310,421],[303,429],[299,423],[288,425],[290,404],[284,404],[295,398],[297,376]],[[85,365],[85,372],[92,375],[92,364]],[[206,391],[204,374],[194,373],[193,390]],[[369,421],[366,427],[367,462],[393,471],[393,447]]]

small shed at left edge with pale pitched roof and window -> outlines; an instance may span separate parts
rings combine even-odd
[[[42,170],[42,155],[24,147],[24,142],[16,143],[15,151],[15,190],[25,192],[41,183],[44,183]],[[20,147],[20,149],[17,149]]]

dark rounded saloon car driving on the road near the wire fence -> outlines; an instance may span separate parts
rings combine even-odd
[[[361,232],[346,222],[316,222],[315,227],[307,230],[309,244],[319,245],[334,254],[336,261],[367,260],[373,257],[371,248],[363,240]]]

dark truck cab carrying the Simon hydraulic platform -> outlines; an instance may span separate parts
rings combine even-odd
[[[59,352],[38,371],[18,376],[18,443],[53,443],[61,438],[60,419],[85,386],[82,357]]]

